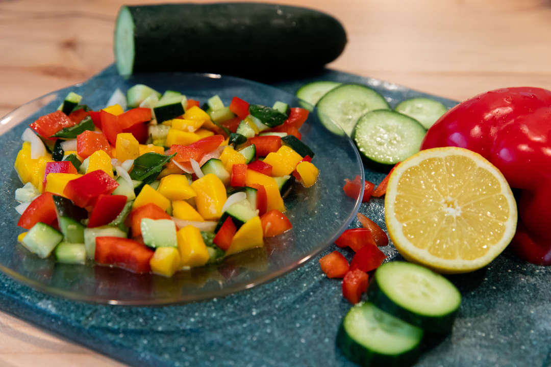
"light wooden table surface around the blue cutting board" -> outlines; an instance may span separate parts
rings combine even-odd
[[[265,1],[265,0],[264,0]],[[268,0],[272,2],[271,0]],[[155,0],[134,3],[163,2]],[[121,0],[0,0],[0,117],[114,61]],[[288,0],[341,20],[329,66],[464,100],[507,86],[551,89],[548,0]],[[0,365],[122,366],[0,313]]]

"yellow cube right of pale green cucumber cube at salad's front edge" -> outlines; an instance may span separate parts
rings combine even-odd
[[[187,226],[176,233],[178,250],[180,251],[180,266],[203,266],[209,259],[207,245],[203,241],[201,231],[193,226]]]

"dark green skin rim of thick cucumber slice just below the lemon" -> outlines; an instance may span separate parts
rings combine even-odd
[[[396,316],[398,319],[402,319],[409,324],[418,326],[424,329],[425,332],[433,334],[450,333],[453,322],[455,322],[455,317],[457,316],[457,312],[459,310],[459,308],[457,308],[457,310],[450,314],[437,317],[415,314],[412,311],[406,310],[402,306],[392,302],[392,300],[387,297],[385,292],[381,291],[379,283],[377,283],[376,276],[375,280],[369,285],[368,298],[369,302],[373,303],[386,313]]]

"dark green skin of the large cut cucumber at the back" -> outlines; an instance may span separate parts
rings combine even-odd
[[[306,8],[214,3],[128,9],[135,26],[134,73],[285,76],[333,61],[347,42],[338,20]]]

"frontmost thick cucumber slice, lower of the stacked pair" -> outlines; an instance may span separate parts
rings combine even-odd
[[[344,317],[337,346],[361,366],[406,367],[419,358],[422,338],[423,329],[366,302],[356,304]]]

